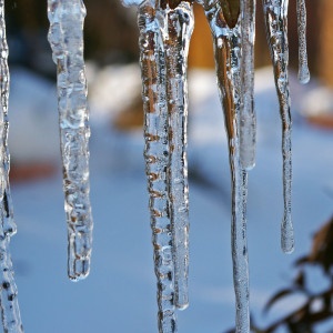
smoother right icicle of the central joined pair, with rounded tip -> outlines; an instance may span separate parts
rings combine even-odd
[[[167,16],[168,34],[164,39],[167,63],[167,99],[169,113],[168,168],[169,204],[173,235],[175,305],[189,304],[189,185],[186,161],[189,42],[193,31],[193,12],[182,2]]]

